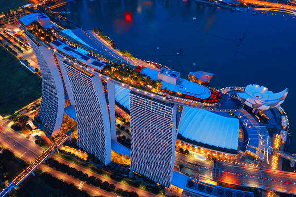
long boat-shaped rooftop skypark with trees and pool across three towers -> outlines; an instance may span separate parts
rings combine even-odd
[[[26,28],[43,44],[49,43],[48,49],[53,49],[69,63],[87,72],[105,75],[140,94],[212,111],[231,112],[244,106],[236,96],[182,79],[179,72],[141,67],[123,55],[111,55],[81,29],[55,32],[43,28],[37,21]]]

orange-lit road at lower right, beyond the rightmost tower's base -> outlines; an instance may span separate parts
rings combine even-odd
[[[209,178],[210,170],[188,165],[186,164],[187,161],[201,166],[209,166],[207,162],[175,153],[175,166],[183,164],[183,173],[193,175],[198,172],[199,176]],[[211,168],[211,166],[209,168]],[[296,173],[280,170],[222,163],[221,179],[217,175],[216,178],[211,178],[211,180],[233,185],[258,187],[266,190],[270,189],[296,194]]]

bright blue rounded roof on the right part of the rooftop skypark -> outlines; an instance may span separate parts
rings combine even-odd
[[[155,81],[159,80],[158,73],[159,71],[153,70],[150,68],[143,68],[141,70],[141,74],[146,74],[147,76],[150,76],[152,80],[155,80]],[[170,90],[173,92],[179,92],[179,93],[191,95],[201,99],[208,98],[211,95],[211,92],[208,88],[182,78],[177,78],[176,85],[165,82],[165,81],[161,81],[161,82],[162,82],[161,89],[167,88],[167,90]]]

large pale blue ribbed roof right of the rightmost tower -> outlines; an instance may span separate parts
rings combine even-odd
[[[239,121],[203,109],[185,107],[179,134],[197,143],[237,151]]]

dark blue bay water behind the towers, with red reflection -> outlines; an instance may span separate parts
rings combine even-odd
[[[249,84],[264,85],[273,92],[289,88],[282,107],[290,122],[290,152],[296,153],[293,16],[271,12],[252,16],[251,12],[219,9],[192,0],[76,0],[63,8],[71,12],[64,16],[82,28],[97,26],[119,48],[179,71],[181,77],[202,70],[214,73],[210,86],[218,89]],[[237,42],[246,31],[233,60]],[[182,55],[175,56],[180,48]]]

